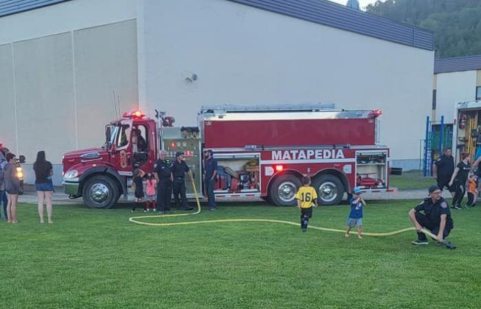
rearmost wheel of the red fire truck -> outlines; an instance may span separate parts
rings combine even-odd
[[[344,185],[336,176],[324,174],[313,181],[313,187],[317,190],[319,205],[337,205],[344,196]]]

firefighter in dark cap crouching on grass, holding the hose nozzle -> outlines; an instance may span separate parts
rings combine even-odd
[[[427,244],[427,238],[421,232],[423,227],[432,231],[437,236],[438,242],[444,242],[454,228],[449,205],[441,197],[441,190],[436,185],[429,187],[429,197],[411,209],[409,216],[418,232],[418,239],[414,240],[413,244]]]

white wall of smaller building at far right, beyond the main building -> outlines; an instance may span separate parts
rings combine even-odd
[[[476,99],[476,70],[436,74],[436,121],[454,123],[457,102]]]

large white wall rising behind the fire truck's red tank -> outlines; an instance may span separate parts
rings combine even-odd
[[[182,125],[195,124],[202,104],[381,108],[381,141],[392,158],[418,159],[434,52],[223,0],[143,4],[139,80],[148,111],[166,110]],[[199,79],[186,81],[191,73]]]

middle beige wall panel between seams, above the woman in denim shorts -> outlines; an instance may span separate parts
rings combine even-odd
[[[57,163],[76,139],[71,34],[14,43],[13,58],[19,151]]]

